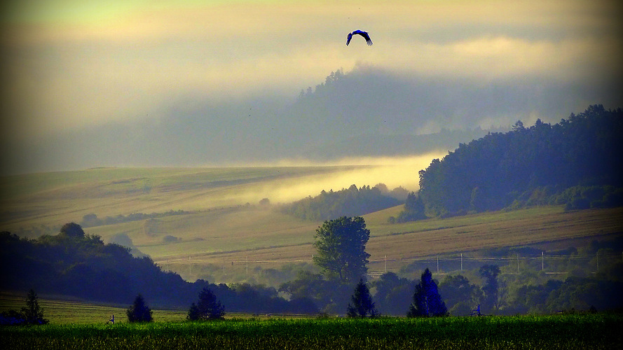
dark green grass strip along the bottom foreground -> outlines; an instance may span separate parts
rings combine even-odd
[[[620,314],[305,318],[0,328],[7,349],[617,349]]]

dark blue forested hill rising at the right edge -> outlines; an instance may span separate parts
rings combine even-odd
[[[460,144],[420,171],[429,216],[540,204],[568,209],[623,204],[623,110],[578,115]]]

